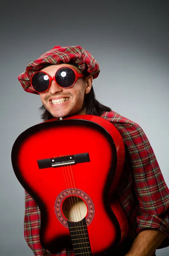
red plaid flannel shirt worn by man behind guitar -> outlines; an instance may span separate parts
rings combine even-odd
[[[128,239],[155,228],[165,233],[160,247],[169,245],[169,189],[161,174],[152,147],[143,130],[135,122],[113,111],[103,112],[102,118],[112,122],[120,132],[126,158],[117,188],[117,198],[129,223]],[[72,250],[51,253],[40,244],[40,210],[26,192],[24,236],[35,256],[73,256]]]

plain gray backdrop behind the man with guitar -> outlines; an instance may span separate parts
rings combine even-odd
[[[0,2],[0,256],[31,256],[23,238],[24,189],[11,166],[17,136],[40,122],[37,95],[17,76],[55,45],[95,56],[97,99],[140,124],[169,186],[169,1]],[[169,249],[157,255],[168,256]]]

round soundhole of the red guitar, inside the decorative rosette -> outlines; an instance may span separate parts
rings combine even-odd
[[[76,195],[69,196],[63,201],[62,210],[65,217],[72,222],[81,221],[87,214],[85,202]]]

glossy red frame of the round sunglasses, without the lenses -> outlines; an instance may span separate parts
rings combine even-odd
[[[62,87],[62,86],[60,86],[59,84],[57,84],[57,81],[56,81],[56,79],[55,79],[55,76],[56,76],[57,72],[58,72],[61,68],[63,68],[63,67],[68,67],[68,68],[70,68],[71,70],[74,71],[74,74],[75,74],[75,81],[74,81],[74,83],[73,83],[71,86],[69,86],[69,87]],[[78,73],[76,70],[74,70],[74,68],[69,67],[69,66],[62,66],[62,67],[60,67],[60,68],[56,71],[56,73],[55,73],[54,76],[50,76],[48,73],[46,73],[45,71],[42,71],[42,70],[35,72],[35,73],[33,74],[33,76],[34,76],[36,73],[40,73],[40,72],[41,72],[41,73],[44,73],[45,75],[47,75],[47,76],[49,77],[49,86],[48,86],[48,88],[47,88],[45,91],[43,91],[43,92],[38,92],[37,90],[34,90],[34,87],[32,86],[32,78],[31,78],[31,87],[32,87],[32,89],[33,89],[35,92],[37,92],[37,93],[45,93],[47,90],[49,90],[49,88],[51,87],[52,81],[55,81],[55,83],[57,84],[57,86],[59,86],[60,88],[63,88],[63,89],[71,88],[71,87],[77,82],[77,79],[79,79],[80,77],[84,77],[84,76],[85,76],[85,75],[83,75],[83,74]],[[32,77],[33,77],[33,76],[32,76]]]

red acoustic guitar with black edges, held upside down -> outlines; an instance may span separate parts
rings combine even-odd
[[[44,248],[103,255],[125,239],[128,224],[115,198],[124,145],[111,122],[82,115],[34,125],[17,138],[11,158],[40,208]]]

